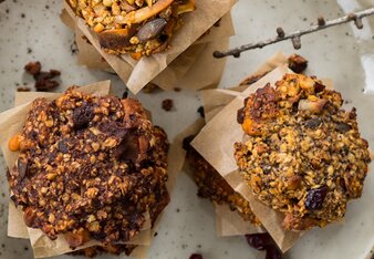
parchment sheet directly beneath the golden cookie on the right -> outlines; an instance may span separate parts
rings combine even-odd
[[[236,123],[237,111],[242,106],[245,97],[267,83],[274,84],[285,73],[292,73],[287,65],[279,66],[264,77],[239,93],[201,130],[191,145],[220,173],[230,186],[250,201],[253,213],[259,217],[263,227],[272,236],[277,245],[284,252],[302,235],[302,232],[287,231],[281,222],[284,216],[264,204],[258,201],[248,185],[237,173],[233,158],[233,143],[241,142],[243,134],[241,126]]]

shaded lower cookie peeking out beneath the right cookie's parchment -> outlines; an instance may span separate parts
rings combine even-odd
[[[194,180],[198,187],[197,195],[201,198],[210,199],[214,204],[226,204],[245,220],[253,225],[261,225],[253,215],[247,199],[236,193],[219,173],[189,145],[193,138],[194,136],[190,136],[185,139],[184,148],[187,151],[186,159],[193,169]]]

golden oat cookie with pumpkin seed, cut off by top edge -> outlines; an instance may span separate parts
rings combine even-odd
[[[134,59],[163,52],[195,0],[69,0],[108,53]]]

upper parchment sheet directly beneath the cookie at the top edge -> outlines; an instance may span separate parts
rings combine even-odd
[[[184,24],[178,30],[173,41],[172,48],[164,53],[157,53],[152,56],[143,56],[139,61],[134,61],[129,55],[113,55],[105,53],[98,43],[96,34],[85,25],[81,18],[75,18],[73,10],[64,1],[64,8],[73,17],[76,25],[83,34],[90,40],[101,55],[110,63],[118,76],[125,82],[127,87],[134,93],[138,93],[148,82],[156,77],[167,65],[179,54],[194,44],[198,38],[204,34],[215,22],[229,12],[235,0],[201,0],[197,1],[197,10],[184,15]],[[212,8],[214,7],[214,8]],[[123,71],[123,64],[133,66],[131,75]]]

